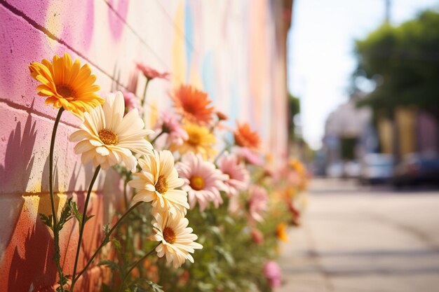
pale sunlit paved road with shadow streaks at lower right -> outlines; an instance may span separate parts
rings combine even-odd
[[[316,179],[276,292],[438,292],[439,191]]]

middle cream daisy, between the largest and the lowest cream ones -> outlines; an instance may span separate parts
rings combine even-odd
[[[173,154],[168,150],[154,150],[152,155],[140,158],[138,162],[142,169],[133,174],[136,179],[128,182],[128,186],[139,190],[133,202],[152,202],[153,214],[158,211],[186,214],[189,209],[187,193],[176,189],[183,186],[184,180],[178,178]]]

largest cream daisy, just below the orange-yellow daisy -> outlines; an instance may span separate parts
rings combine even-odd
[[[152,145],[144,137],[154,131],[144,130],[137,109],[123,116],[124,109],[123,95],[117,92],[116,95],[109,95],[103,106],[84,113],[80,130],[70,136],[70,141],[79,141],[74,151],[76,154],[82,153],[83,164],[91,160],[95,167],[100,165],[102,169],[109,169],[123,162],[134,172],[137,160],[131,151],[151,153]]]

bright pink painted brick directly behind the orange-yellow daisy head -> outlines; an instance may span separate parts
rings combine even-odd
[[[44,104],[45,98],[36,95],[36,85],[39,83],[30,76],[28,66],[33,61],[50,60],[55,54],[68,52],[72,57],[76,55],[4,6],[0,6],[0,19],[8,23],[0,26],[0,36],[6,38],[0,41],[0,100],[20,109],[32,108],[34,113],[54,119],[57,109],[47,106]],[[111,79],[93,67],[92,71],[97,75],[96,83],[102,89],[109,89]],[[72,125],[79,125],[80,122],[72,115],[65,115],[64,120]]]

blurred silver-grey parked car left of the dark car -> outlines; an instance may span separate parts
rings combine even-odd
[[[393,156],[383,153],[366,154],[362,160],[362,183],[386,183],[393,177]]]

